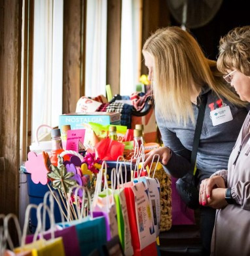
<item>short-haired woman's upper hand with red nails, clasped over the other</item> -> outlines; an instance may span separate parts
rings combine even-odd
[[[224,179],[220,175],[202,181],[199,194],[200,205],[205,206],[207,204],[207,199],[211,197],[211,191],[215,188],[226,188]]]

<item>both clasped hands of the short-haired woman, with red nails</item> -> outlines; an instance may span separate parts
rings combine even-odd
[[[225,200],[226,186],[220,175],[204,179],[200,184],[199,201],[202,206],[221,209],[228,203]]]

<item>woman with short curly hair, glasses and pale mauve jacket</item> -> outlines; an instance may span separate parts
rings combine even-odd
[[[220,41],[217,66],[241,100],[250,102],[250,26],[232,29]],[[217,208],[211,255],[250,255],[250,113],[222,170],[202,181],[200,200]],[[224,183],[225,187],[215,186]],[[231,243],[230,239],[234,239]]]

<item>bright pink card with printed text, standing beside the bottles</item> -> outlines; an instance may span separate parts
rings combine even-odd
[[[66,150],[73,150],[79,152],[79,143],[84,142],[85,129],[68,130]]]

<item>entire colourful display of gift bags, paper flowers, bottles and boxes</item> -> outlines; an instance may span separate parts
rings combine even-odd
[[[98,112],[102,104],[81,98],[84,113],[61,115],[58,129],[46,126],[46,150],[38,139],[32,145],[22,167],[30,200],[24,230],[16,216],[0,215],[1,255],[157,255],[160,230],[171,227],[171,181],[159,155],[150,168],[143,162],[145,149],[159,145],[145,143],[143,125],[121,126],[121,113]]]

